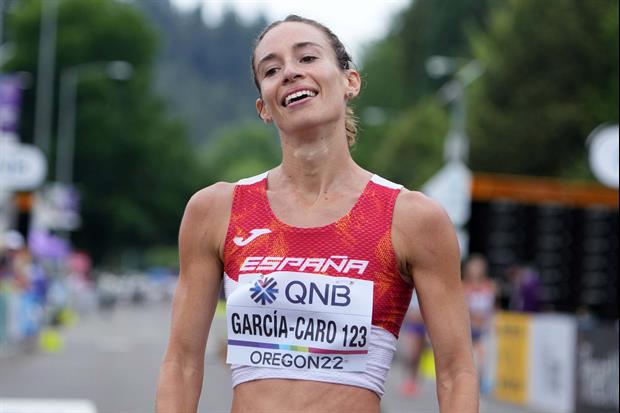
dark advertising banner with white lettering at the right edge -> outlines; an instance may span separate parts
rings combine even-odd
[[[576,411],[618,412],[617,322],[580,330],[577,345]]]

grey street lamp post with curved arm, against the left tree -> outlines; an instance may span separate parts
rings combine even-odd
[[[77,87],[80,75],[90,71],[104,71],[114,80],[127,80],[133,68],[124,61],[84,63],[69,67],[60,76],[60,102],[58,119],[58,147],[56,154],[56,181],[70,184],[73,181],[75,149],[75,114]]]

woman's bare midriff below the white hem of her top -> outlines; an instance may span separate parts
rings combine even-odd
[[[235,387],[231,413],[379,413],[371,390],[306,380],[262,379]]]

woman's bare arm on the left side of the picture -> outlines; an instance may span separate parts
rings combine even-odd
[[[232,185],[215,184],[196,193],[185,209],[179,232],[179,281],[157,386],[157,412],[189,413],[198,408],[231,199]]]

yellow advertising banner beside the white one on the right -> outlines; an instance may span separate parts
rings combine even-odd
[[[497,369],[495,397],[525,404],[528,391],[530,316],[499,313],[495,318]]]

